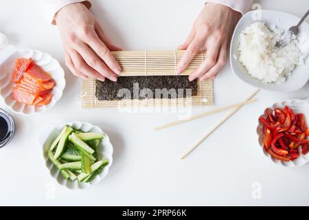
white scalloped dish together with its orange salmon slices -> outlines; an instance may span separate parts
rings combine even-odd
[[[9,45],[0,52],[0,96],[15,113],[52,109],[65,89],[65,72],[49,54]]]

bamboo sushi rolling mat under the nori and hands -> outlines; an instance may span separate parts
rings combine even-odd
[[[112,52],[122,67],[120,76],[174,76],[176,65],[185,51],[120,51]],[[201,51],[185,69],[182,76],[189,76],[205,59],[205,51]],[[176,99],[143,99],[143,100],[98,100],[95,96],[95,79],[82,80],[82,108],[100,107],[153,107],[153,106],[186,106],[187,104],[211,106],[214,104],[213,80],[197,81],[198,94],[188,98]]]

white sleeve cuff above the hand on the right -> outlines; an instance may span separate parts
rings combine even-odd
[[[225,5],[242,14],[249,12],[253,4],[253,0],[207,0],[206,2]]]

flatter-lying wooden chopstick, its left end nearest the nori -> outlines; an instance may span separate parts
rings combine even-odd
[[[252,103],[252,102],[255,102],[255,101],[256,101],[256,99],[250,99],[250,100],[246,100],[244,102],[238,102],[236,104],[231,104],[231,105],[228,105],[228,106],[225,106],[225,107],[221,107],[219,109],[215,109],[215,110],[212,110],[212,111],[207,111],[207,112],[204,112],[204,113],[200,113],[198,115],[193,115],[190,118],[185,119],[185,120],[177,120],[177,121],[174,121],[174,122],[163,124],[161,126],[157,126],[157,127],[155,127],[155,131],[158,131],[158,130],[161,130],[161,129],[166,129],[166,128],[170,127],[170,126],[175,126],[177,124],[182,124],[182,123],[185,123],[185,122],[196,120],[198,118],[203,118],[203,117],[208,116],[208,115],[213,115],[213,114],[219,113],[221,111],[233,109],[233,108],[236,108],[236,107],[242,107],[244,104],[249,104],[249,103]]]

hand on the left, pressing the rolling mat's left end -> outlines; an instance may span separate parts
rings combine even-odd
[[[117,81],[121,67],[110,50],[121,49],[111,43],[84,4],[65,6],[55,21],[65,48],[65,64],[74,75]]]

